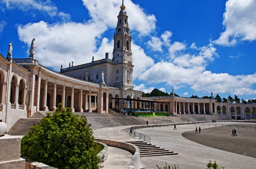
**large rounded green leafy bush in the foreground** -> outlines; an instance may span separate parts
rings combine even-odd
[[[38,126],[21,140],[21,153],[58,169],[98,169],[93,130],[84,115],[74,115],[70,107],[47,113]]]

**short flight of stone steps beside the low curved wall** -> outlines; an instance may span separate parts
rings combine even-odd
[[[177,152],[172,152],[168,149],[160,148],[144,141],[128,141],[127,143],[134,144],[140,149],[140,157],[160,156],[160,155],[177,155]]]

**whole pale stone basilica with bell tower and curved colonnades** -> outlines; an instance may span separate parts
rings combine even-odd
[[[92,58],[90,63],[61,66],[58,73],[36,60],[36,39],[32,39],[28,58],[13,59],[12,42],[9,43],[7,56],[0,54],[0,121],[8,125],[8,130],[19,118],[30,117],[37,111],[54,111],[58,103],[71,107],[72,112],[108,113],[108,108],[115,107],[175,114],[233,115],[236,119],[255,115],[253,104],[175,96],[142,98],[142,92],[134,90],[133,85],[128,15],[124,5],[120,8],[112,58],[106,53],[103,59]]]

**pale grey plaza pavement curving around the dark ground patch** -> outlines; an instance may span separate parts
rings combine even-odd
[[[229,122],[217,123],[217,126],[230,124]],[[239,123],[236,123],[239,124]],[[241,123],[241,125],[244,123]],[[249,124],[248,124],[249,125]],[[171,127],[154,127],[137,130],[142,134],[151,137],[151,144],[160,146],[161,148],[169,149],[174,152],[178,152],[178,155],[167,156],[154,156],[154,157],[141,157],[141,168],[157,169],[157,166],[163,168],[165,163],[168,165],[179,166],[179,169],[206,169],[206,164],[211,161],[217,161],[218,166],[224,166],[225,169],[256,169],[256,159],[245,155],[239,155],[232,152],[215,149],[209,146],[195,143],[184,138],[181,134],[187,131],[194,131],[195,126],[200,126],[202,132],[209,127],[215,127],[214,124],[190,124],[190,125],[177,125],[177,130],[173,130]],[[115,141],[138,141],[127,133],[121,133],[120,130],[128,128],[130,126],[123,127],[110,127],[94,131],[94,137],[99,139],[115,140]],[[230,133],[228,133],[230,134]],[[218,136],[216,136],[218,137]],[[201,138],[204,140],[205,138]],[[219,139],[222,139],[221,137]],[[212,141],[212,144],[218,144],[216,141]],[[233,146],[233,145],[230,145]],[[239,141],[237,142],[239,146]],[[115,151],[117,157],[121,157],[121,150]],[[123,158],[123,157],[122,157]],[[127,157],[128,158],[128,157]],[[121,160],[121,158],[120,158]],[[105,169],[114,169],[115,163],[107,163]],[[104,165],[104,164],[103,164]],[[123,169],[127,169],[128,166],[123,166]],[[119,169],[121,169],[119,167]]]

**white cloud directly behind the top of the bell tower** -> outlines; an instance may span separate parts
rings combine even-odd
[[[119,14],[120,0],[82,0],[84,6],[89,10],[90,16],[95,21],[100,21],[116,28]],[[129,16],[128,23],[131,31],[138,31],[142,35],[150,34],[156,28],[156,17],[153,14],[145,13],[144,9],[131,0],[125,0],[126,12]]]

